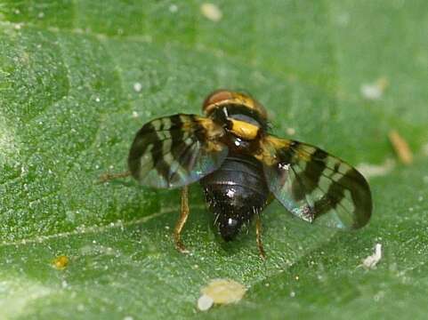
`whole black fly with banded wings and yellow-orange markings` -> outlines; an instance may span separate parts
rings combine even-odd
[[[136,180],[154,188],[182,188],[182,212],[174,229],[177,248],[189,215],[188,185],[199,181],[214,224],[232,240],[256,219],[261,241],[262,210],[276,198],[309,222],[343,229],[363,227],[372,201],[367,181],[351,165],[327,152],[267,131],[262,105],[243,93],[213,92],[205,116],[174,115],[144,124],[128,165]]]

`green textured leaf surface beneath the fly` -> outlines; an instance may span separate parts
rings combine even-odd
[[[0,317],[424,318],[428,287],[428,5],[425,1],[0,1]],[[376,100],[361,86],[384,79]],[[198,185],[176,252],[176,190],[132,180],[142,124],[198,113],[217,88],[251,92],[272,131],[351,164],[394,158],[388,132],[415,162],[372,177],[367,228],[333,232],[263,216],[223,244]],[[376,243],[376,269],[358,268]],[[69,257],[64,269],[52,260]],[[198,311],[216,277],[246,284],[236,305]]]

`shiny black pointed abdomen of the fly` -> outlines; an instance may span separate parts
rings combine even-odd
[[[253,156],[230,154],[220,169],[200,181],[222,238],[232,240],[241,226],[266,205],[269,189],[262,164]]]

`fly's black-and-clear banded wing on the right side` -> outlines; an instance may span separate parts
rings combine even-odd
[[[266,181],[289,212],[320,225],[355,229],[367,224],[372,199],[355,168],[320,148],[267,136],[261,141]]]

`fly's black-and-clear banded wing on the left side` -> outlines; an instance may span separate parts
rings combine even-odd
[[[228,154],[222,126],[195,115],[161,117],[144,124],[129,151],[128,166],[141,184],[178,188],[218,169]]]

